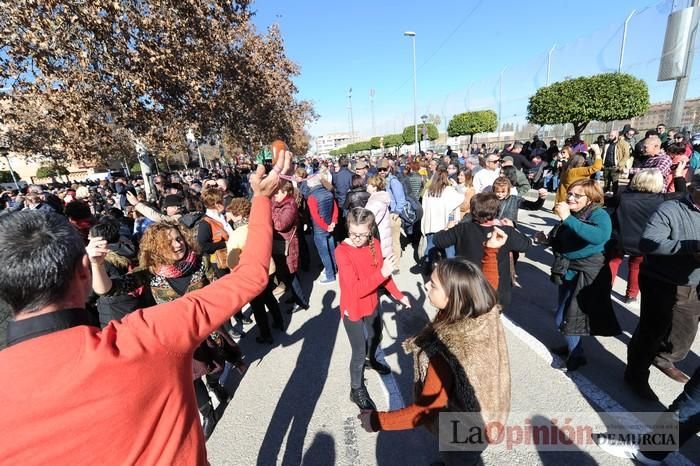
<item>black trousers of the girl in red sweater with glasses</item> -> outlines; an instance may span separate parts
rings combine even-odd
[[[373,314],[363,317],[357,322],[343,316],[343,326],[348,334],[352,356],[350,356],[350,387],[360,388],[364,385],[363,372],[365,359],[369,354],[374,360],[379,343],[382,341],[382,316],[377,308]],[[367,338],[365,338],[365,329]]]

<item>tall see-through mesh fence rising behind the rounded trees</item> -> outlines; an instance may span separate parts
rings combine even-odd
[[[673,96],[675,81],[657,81],[659,62],[664,42],[664,34],[668,15],[675,10],[689,6],[688,0],[662,0],[636,11],[623,12],[618,18],[606,16],[599,25],[568,24],[562,27],[562,33],[582,28],[592,32],[571,41],[558,41],[551,48],[525,58],[519,63],[508,63],[499,70],[493,70],[485,78],[470,82],[465,78],[464,86],[446,93],[440,98],[421,100],[418,98],[418,115],[423,113],[437,114],[441,118],[440,130],[446,131],[447,123],[457,113],[492,109],[499,114],[501,137],[498,134],[476,137],[475,141],[488,139],[506,141],[512,134],[506,136],[506,131],[514,131],[519,139],[529,138],[535,132],[542,137],[562,139],[573,133],[573,128],[566,125],[540,128],[527,124],[528,99],[537,89],[548,83],[563,81],[567,78],[590,76],[598,73],[622,72],[634,75],[644,80],[648,87],[651,103],[670,102]],[[614,5],[614,2],[612,3]],[[610,13],[613,7],[603,13]],[[621,60],[621,44],[624,23],[629,14],[632,16],[627,23],[627,39],[624,59]],[[606,22],[608,23],[606,25]],[[575,20],[574,20],[575,23]],[[600,26],[600,27],[597,27]],[[559,27],[553,25],[552,27]],[[688,99],[700,97],[700,39],[696,43],[694,54],[695,72],[691,74],[688,85]],[[621,65],[621,66],[620,66]],[[644,130],[663,122],[664,112],[657,112],[659,121],[652,122],[638,129]],[[377,134],[400,132],[404,126],[413,123],[411,108],[403,114],[394,115],[389,119],[379,121]],[[633,122],[634,123],[634,122]],[[648,123],[648,122],[647,122]],[[419,123],[420,124],[420,123]],[[609,129],[619,128],[622,122],[607,124],[591,124],[584,133],[585,139],[591,139]],[[700,128],[700,102],[698,109],[689,110],[683,116],[683,126],[688,130]],[[461,140],[460,143],[464,143]]]

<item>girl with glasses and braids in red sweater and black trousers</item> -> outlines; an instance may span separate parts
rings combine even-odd
[[[382,259],[379,241],[372,236],[374,214],[356,207],[348,213],[347,225],[348,238],[336,248],[335,257],[340,278],[341,318],[352,347],[350,400],[360,409],[376,409],[364,384],[365,359],[369,355],[369,367],[380,374],[391,372],[376,360],[382,339],[377,289],[383,286],[404,306],[408,307],[409,303],[391,279],[391,272],[397,267],[394,257]]]

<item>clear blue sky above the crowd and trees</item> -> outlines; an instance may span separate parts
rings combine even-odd
[[[288,56],[301,66],[299,97],[321,115],[313,136],[348,131],[352,88],[355,131],[372,131],[369,92],[375,90],[375,132],[400,132],[413,122],[411,39],[416,32],[418,115],[444,123],[458,112],[498,110],[503,73],[503,121],[524,120],[527,98],[567,76],[616,71],[622,24],[629,23],[623,71],[647,81],[652,102],[670,100],[673,83],[656,81],[666,18],[687,0],[263,1],[255,23],[278,23]],[[700,59],[696,59],[696,68]],[[698,73],[695,73],[696,75]],[[689,97],[699,95],[692,79]],[[443,124],[444,124],[443,123]],[[442,129],[442,128],[441,128]]]

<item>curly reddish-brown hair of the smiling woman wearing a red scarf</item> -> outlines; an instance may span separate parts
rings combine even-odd
[[[182,236],[187,248],[197,251],[197,242],[190,229],[181,223],[161,222],[151,224],[143,234],[140,243],[139,265],[155,271],[164,265],[173,265],[170,232],[176,230]]]

